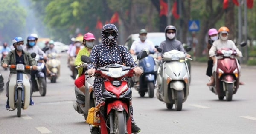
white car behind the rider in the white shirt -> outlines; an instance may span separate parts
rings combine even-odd
[[[131,34],[127,37],[126,42],[125,42],[125,47],[130,50],[131,44],[134,42],[134,40],[140,40],[139,34]],[[152,32],[147,34],[147,40],[151,40],[155,46],[159,46],[160,43],[164,40],[165,38],[165,33],[164,32]]]

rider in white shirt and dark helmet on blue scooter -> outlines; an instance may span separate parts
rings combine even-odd
[[[148,50],[151,52],[156,51],[156,48],[154,47],[153,42],[150,40],[147,40],[147,34],[148,34],[148,32],[146,31],[146,29],[140,30],[140,32],[139,32],[140,40],[135,40],[131,44],[131,48],[130,48],[131,54],[137,54],[140,51],[142,51],[144,48],[148,48]]]

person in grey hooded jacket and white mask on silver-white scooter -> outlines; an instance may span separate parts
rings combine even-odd
[[[162,52],[158,53],[158,59],[162,58],[162,54],[171,51],[171,50],[178,50],[178,51],[183,51],[186,53],[184,47],[182,46],[182,43],[179,40],[176,40],[176,28],[175,26],[168,25],[165,28],[165,36],[166,40],[160,43],[159,48],[162,49]],[[191,57],[189,54],[186,53],[186,57]]]

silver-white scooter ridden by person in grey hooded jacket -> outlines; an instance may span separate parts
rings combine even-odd
[[[185,59],[192,60],[182,51],[171,50],[163,54],[163,64],[158,68],[156,96],[168,109],[175,104],[176,111],[181,111],[189,95],[190,74]]]

